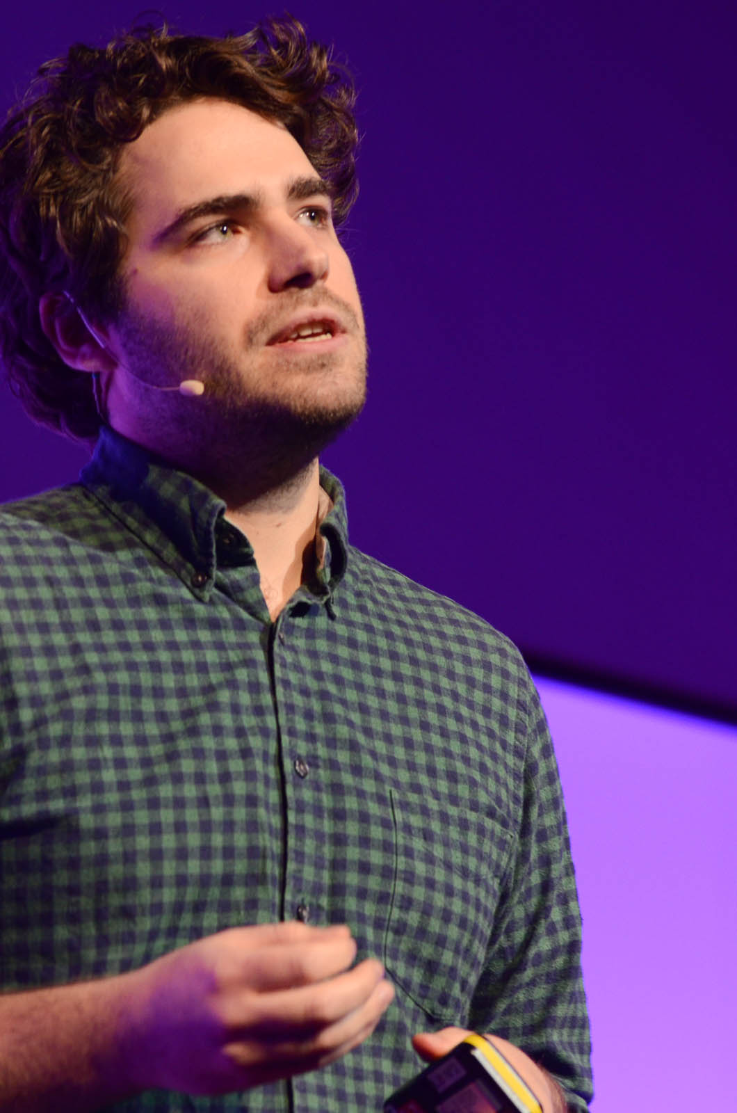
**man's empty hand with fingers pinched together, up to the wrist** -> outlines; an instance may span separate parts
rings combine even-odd
[[[394,991],[348,928],[237,927],[132,976],[138,1086],[220,1094],[324,1066],[373,1032]],[[135,1014],[134,1014],[135,1015]]]

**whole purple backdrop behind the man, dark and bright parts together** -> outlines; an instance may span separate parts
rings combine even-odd
[[[537,663],[737,717],[737,7],[289,7],[361,89],[345,244],[371,392],[326,455],[353,540]],[[139,10],[18,6],[6,101]],[[262,13],[164,9],[213,33]],[[0,498],[83,459],[6,403]],[[735,731],[549,681],[543,696],[590,929],[594,1110],[724,1103]],[[681,1073],[695,1036],[704,1102]]]

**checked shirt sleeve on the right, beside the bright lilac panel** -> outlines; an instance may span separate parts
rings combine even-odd
[[[521,1047],[563,1087],[569,1107],[591,1100],[581,918],[558,765],[529,679],[519,730],[523,806],[471,1025]]]

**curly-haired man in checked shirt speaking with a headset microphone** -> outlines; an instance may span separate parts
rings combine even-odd
[[[4,363],[99,439],[2,515],[3,1110],[377,1110],[466,1027],[584,1109],[527,670],[317,465],[364,401],[355,138],[289,21],[73,48],[6,125]]]

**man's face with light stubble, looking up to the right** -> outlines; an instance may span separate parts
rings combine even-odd
[[[250,441],[255,426],[313,430],[318,450],[361,410],[365,336],[302,148],[248,109],[204,99],[146,128],[119,175],[132,209],[125,308],[108,328],[121,365],[105,384],[114,426],[175,457],[179,442],[203,452],[213,439]],[[139,382],[188,378],[205,384],[200,398]]]

